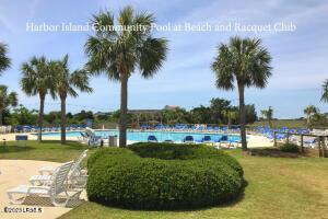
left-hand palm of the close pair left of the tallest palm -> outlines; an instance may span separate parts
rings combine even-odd
[[[39,96],[39,111],[38,111],[38,128],[39,135],[37,137],[38,141],[42,141],[42,129],[44,122],[44,108],[45,99],[48,93],[55,97],[54,88],[54,74],[51,73],[50,64],[44,57],[33,57],[28,62],[24,62],[21,67],[22,79],[21,88],[22,90],[31,96]]]

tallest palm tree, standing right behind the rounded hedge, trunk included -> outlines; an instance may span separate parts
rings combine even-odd
[[[104,72],[110,80],[120,82],[119,145],[126,147],[128,80],[137,68],[143,78],[152,78],[166,59],[167,41],[152,36],[154,18],[150,13],[134,13],[131,7],[127,7],[119,12],[117,21],[122,30],[104,31],[114,26],[114,15],[108,11],[94,15],[92,23],[96,32],[89,37],[85,53],[91,72]]]

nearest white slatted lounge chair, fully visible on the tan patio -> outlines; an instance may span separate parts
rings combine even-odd
[[[65,207],[72,197],[79,198],[82,192],[82,189],[74,191],[73,195],[68,193],[66,182],[72,165],[73,161],[70,161],[58,166],[58,169],[54,172],[54,177],[49,185],[20,185],[7,191],[9,199],[12,204],[23,204],[27,196],[33,195],[37,197],[48,197],[54,206]],[[23,197],[14,198],[15,195],[23,195]],[[61,198],[65,198],[65,200],[58,201],[58,199]]]

